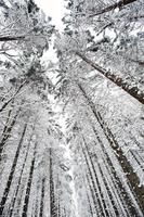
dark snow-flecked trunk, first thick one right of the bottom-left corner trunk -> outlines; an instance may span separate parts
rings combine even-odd
[[[32,183],[32,176],[34,176],[34,170],[35,170],[34,167],[35,167],[35,162],[36,162],[36,152],[37,152],[37,143],[35,144],[35,149],[34,149],[34,157],[32,157],[31,165],[30,165],[22,217],[27,217],[28,203],[29,203],[29,196],[30,196],[30,190],[31,190],[31,183]]]

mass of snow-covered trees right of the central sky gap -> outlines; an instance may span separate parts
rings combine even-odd
[[[143,3],[120,4],[69,1],[55,41],[81,216],[143,216]]]

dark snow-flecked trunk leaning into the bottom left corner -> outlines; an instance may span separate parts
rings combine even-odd
[[[24,126],[24,130],[23,130],[21,140],[19,140],[17,150],[16,150],[16,154],[15,154],[15,157],[14,157],[14,161],[13,161],[11,173],[9,175],[9,178],[8,178],[6,187],[4,189],[4,193],[3,193],[3,196],[2,196],[2,200],[1,200],[1,203],[0,203],[0,216],[2,216],[4,205],[5,205],[5,202],[6,202],[6,199],[8,199],[8,194],[10,192],[11,183],[12,183],[12,180],[13,180],[13,175],[14,175],[14,171],[15,171],[15,168],[16,168],[16,165],[17,165],[21,148],[22,148],[23,140],[24,140],[24,137],[25,137],[25,133],[26,133],[26,128],[27,128],[27,124],[25,124],[25,126]]]

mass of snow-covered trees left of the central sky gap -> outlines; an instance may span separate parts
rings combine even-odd
[[[69,193],[61,178],[63,135],[49,99],[53,85],[40,60],[54,31],[50,20],[31,0],[1,2],[0,216],[70,210],[62,195]]]

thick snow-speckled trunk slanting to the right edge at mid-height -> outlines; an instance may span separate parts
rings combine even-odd
[[[93,68],[95,68],[99,73],[101,73],[103,76],[105,76],[108,80],[117,85],[118,87],[122,88],[128,94],[136,99],[139,102],[144,104],[144,92],[138,87],[136,84],[132,84],[130,81],[127,81],[125,78],[117,76],[116,74],[106,71],[105,68],[102,68],[96,63],[93,63],[91,60],[89,60],[86,55],[83,55],[80,52],[76,52],[76,54],[81,58],[86,63],[91,65]]]

